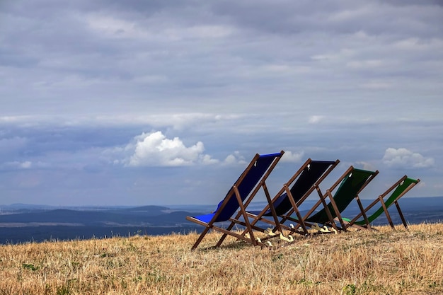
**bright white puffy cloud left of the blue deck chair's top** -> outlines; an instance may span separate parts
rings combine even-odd
[[[219,161],[203,154],[205,146],[198,141],[192,146],[185,146],[183,141],[174,137],[168,139],[160,132],[142,133],[134,137],[125,151],[132,155],[125,160],[126,166],[190,166],[193,164],[213,164]]]

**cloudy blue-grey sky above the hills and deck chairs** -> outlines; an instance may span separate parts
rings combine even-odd
[[[285,151],[443,196],[442,1],[0,2],[0,204],[217,204]],[[258,196],[260,197],[260,196]]]

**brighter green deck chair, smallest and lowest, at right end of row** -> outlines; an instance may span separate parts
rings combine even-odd
[[[360,213],[355,216],[354,219],[346,219],[347,221],[347,227],[355,226],[358,229],[364,228],[364,229],[371,229],[372,222],[377,219],[381,214],[386,214],[386,219],[388,219],[389,225],[391,225],[392,229],[395,229],[391,215],[389,214],[389,207],[391,207],[392,204],[396,205],[398,215],[401,218],[401,221],[403,222],[403,226],[405,226],[405,229],[408,229],[408,224],[406,224],[405,218],[403,216],[403,212],[401,212],[400,205],[398,204],[398,199],[403,197],[403,195],[406,194],[410,189],[412,189],[415,185],[417,185],[420,182],[420,179],[413,179],[408,178],[407,175],[404,175],[400,180],[398,180],[396,183],[394,183],[391,187],[389,187],[386,192],[384,192],[382,195],[379,195],[377,199],[374,200],[371,204],[369,204],[366,208],[363,208],[362,202],[357,199],[357,202],[359,203]],[[389,193],[391,192],[391,195]],[[385,199],[386,196],[388,196],[387,199]],[[376,204],[380,203],[379,209],[376,209],[375,212],[373,212],[371,215],[367,216],[367,212],[369,212],[370,209],[372,209]]]

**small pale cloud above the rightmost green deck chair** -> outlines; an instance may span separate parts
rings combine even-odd
[[[425,158],[421,154],[408,149],[386,149],[382,159],[386,166],[393,168],[428,168],[434,166],[433,158]]]

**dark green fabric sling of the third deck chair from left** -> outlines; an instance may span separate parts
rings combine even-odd
[[[374,171],[362,170],[362,169],[352,169],[352,171],[343,179],[342,183],[338,187],[333,199],[335,204],[337,204],[338,211],[343,212],[346,207],[352,202],[352,199],[357,197],[359,190],[362,189],[364,183],[376,173]],[[327,201],[327,199],[326,199]],[[333,205],[329,202],[328,208],[333,218],[337,217]],[[323,208],[313,216],[306,219],[308,222],[318,222],[319,224],[324,224],[329,221],[326,209]]]

